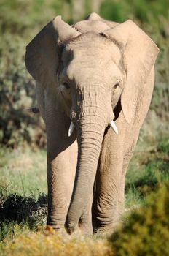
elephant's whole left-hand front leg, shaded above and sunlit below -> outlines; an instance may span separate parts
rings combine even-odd
[[[71,200],[76,172],[75,132],[68,137],[71,120],[60,108],[60,99],[46,91],[44,120],[47,130],[47,225],[62,230]]]

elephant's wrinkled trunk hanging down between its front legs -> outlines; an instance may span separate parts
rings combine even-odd
[[[107,118],[102,108],[93,109],[95,114],[84,114],[76,122],[78,161],[71,206],[66,219],[66,230],[72,233],[93,193]]]

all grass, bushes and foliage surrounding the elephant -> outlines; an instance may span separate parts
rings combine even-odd
[[[25,45],[55,15],[74,23],[95,10],[134,20],[160,48],[152,104],[127,172],[126,217],[109,239],[44,230],[45,127],[28,111],[36,97],[24,64]],[[0,255],[168,255],[168,22],[166,0],[0,0]]]

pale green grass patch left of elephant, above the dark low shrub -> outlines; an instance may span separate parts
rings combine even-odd
[[[1,148],[0,191],[4,195],[47,193],[46,152],[30,148]]]

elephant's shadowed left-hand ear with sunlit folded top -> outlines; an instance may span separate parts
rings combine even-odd
[[[76,31],[57,16],[27,45],[25,66],[33,78],[45,88],[55,85],[59,65],[59,43],[77,37]]]

